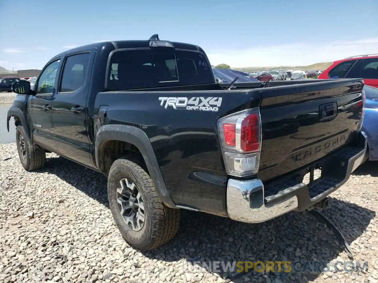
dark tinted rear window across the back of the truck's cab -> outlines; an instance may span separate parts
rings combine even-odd
[[[116,51],[108,67],[108,90],[214,83],[211,65],[197,51]]]

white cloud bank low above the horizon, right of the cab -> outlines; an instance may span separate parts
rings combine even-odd
[[[376,53],[378,37],[338,42],[297,42],[287,45],[260,46],[245,50],[208,51],[210,63],[232,67],[307,66],[333,62],[349,56]]]

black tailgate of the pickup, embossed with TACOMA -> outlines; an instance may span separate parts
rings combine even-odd
[[[262,89],[258,177],[271,180],[350,143],[363,109],[362,79]]]

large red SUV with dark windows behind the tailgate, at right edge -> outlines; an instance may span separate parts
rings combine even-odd
[[[378,88],[378,54],[335,61],[318,78],[363,78],[366,85]]]

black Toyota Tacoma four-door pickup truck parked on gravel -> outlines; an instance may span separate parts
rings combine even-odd
[[[327,206],[366,160],[363,86],[220,84],[199,46],[153,35],[56,55],[33,89],[13,83],[7,126],[26,170],[55,152],[107,176],[116,225],[149,250],[175,236],[180,209],[260,223]]]

